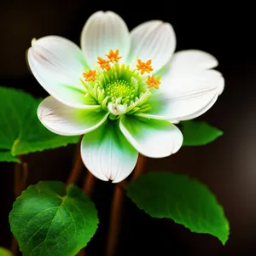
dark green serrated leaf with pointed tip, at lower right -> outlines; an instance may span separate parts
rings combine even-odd
[[[172,218],[192,232],[228,240],[224,210],[207,187],[185,175],[151,172],[127,186],[128,196],[154,218]]]

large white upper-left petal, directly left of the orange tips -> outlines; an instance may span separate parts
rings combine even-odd
[[[77,108],[87,107],[80,82],[86,63],[82,51],[66,38],[49,36],[32,41],[27,61],[33,75],[51,96]]]

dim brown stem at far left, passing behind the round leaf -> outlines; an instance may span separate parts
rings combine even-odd
[[[22,157],[19,157],[20,163],[15,164],[14,172],[14,192],[15,198],[20,196],[21,192],[26,188],[26,178],[28,176],[28,167],[27,163],[23,161]],[[16,255],[18,253],[18,242],[13,236],[11,241],[11,251]]]

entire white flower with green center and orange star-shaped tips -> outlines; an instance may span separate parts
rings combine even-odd
[[[84,25],[81,48],[48,36],[32,41],[27,58],[51,95],[38,118],[57,134],[84,135],[84,165],[102,180],[125,179],[138,152],[176,153],[183,136],[173,123],[205,113],[224,90],[212,69],[218,61],[200,50],[173,54],[175,33],[160,20],[129,32],[119,15],[96,12]]]

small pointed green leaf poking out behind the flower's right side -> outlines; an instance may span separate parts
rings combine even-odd
[[[212,143],[223,135],[223,131],[218,130],[212,125],[202,121],[183,121],[181,122],[183,132],[183,146],[200,146]]]

